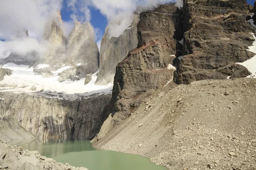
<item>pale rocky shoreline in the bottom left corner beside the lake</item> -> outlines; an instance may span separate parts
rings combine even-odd
[[[73,167],[51,158],[41,156],[38,151],[23,150],[0,140],[0,170],[87,170],[85,167]]]

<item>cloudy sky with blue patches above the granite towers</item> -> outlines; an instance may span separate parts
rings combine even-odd
[[[127,28],[137,5],[148,7],[170,0],[67,0],[67,7],[72,11],[71,20],[64,22],[66,36],[73,29],[76,20],[91,20],[90,8],[98,9],[108,20],[110,37],[117,37]],[[178,6],[183,1],[177,0]],[[41,53],[45,50],[41,42],[44,28],[49,17],[60,10],[63,0],[0,0],[0,57],[6,57],[8,51],[25,54],[28,51]],[[100,22],[100,21],[99,21]],[[28,39],[16,39],[18,31],[29,30]],[[99,28],[94,28],[98,47],[102,39]],[[15,47],[15,48],[14,48]]]

